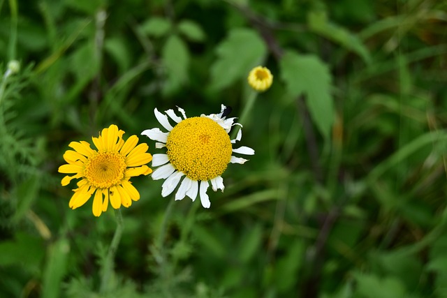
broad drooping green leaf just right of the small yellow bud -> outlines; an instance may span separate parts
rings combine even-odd
[[[315,55],[300,55],[292,51],[286,52],[279,64],[288,92],[293,96],[307,95],[306,103],[312,120],[328,139],[335,119],[330,95],[332,77],[328,66]]]

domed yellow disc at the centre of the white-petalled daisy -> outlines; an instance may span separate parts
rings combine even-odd
[[[166,147],[175,169],[197,181],[220,176],[233,150],[228,133],[207,117],[191,117],[179,122],[170,131]]]

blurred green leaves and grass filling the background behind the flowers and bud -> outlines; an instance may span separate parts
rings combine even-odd
[[[100,297],[115,218],[68,208],[69,142],[110,124],[140,135],[154,107],[237,116],[257,65],[274,83],[244,123],[256,155],[206,210],[167,212],[161,181],[133,179],[101,297],[447,297],[446,10],[0,0],[0,297]]]

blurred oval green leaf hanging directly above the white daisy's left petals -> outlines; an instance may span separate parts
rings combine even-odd
[[[188,80],[189,52],[184,41],[178,36],[170,36],[163,46],[161,59],[167,72],[163,94],[173,94]]]

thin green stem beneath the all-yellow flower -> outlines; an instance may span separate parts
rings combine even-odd
[[[99,289],[99,292],[101,292],[101,294],[108,292],[108,288],[110,285],[109,280],[113,272],[115,253],[117,252],[119,241],[121,240],[121,235],[123,232],[123,217],[120,209],[115,209],[115,218],[117,220],[117,229],[115,230],[115,234],[113,234],[112,243],[110,244],[107,257],[104,261],[103,276],[101,278],[101,288]]]

